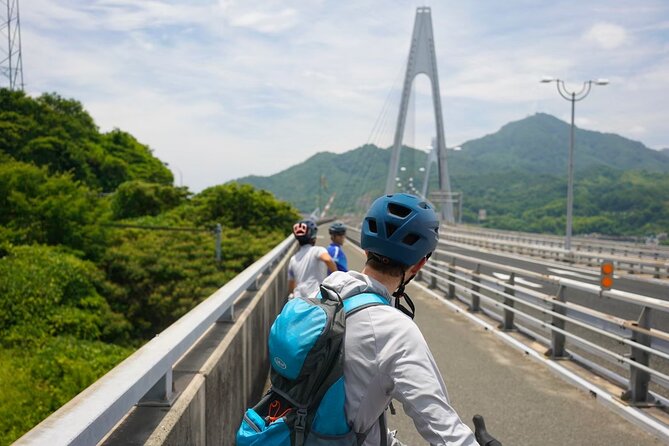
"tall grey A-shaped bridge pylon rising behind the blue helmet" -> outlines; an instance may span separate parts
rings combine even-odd
[[[406,74],[404,76],[404,88],[402,90],[402,101],[397,116],[397,127],[395,128],[395,140],[393,152],[390,158],[390,170],[386,181],[386,193],[395,191],[395,177],[400,162],[400,150],[402,149],[402,138],[406,125],[407,108],[411,96],[411,86],[419,74],[425,74],[432,84],[432,104],[434,105],[434,118],[437,129],[436,150],[437,165],[439,170],[439,196],[447,197],[451,192],[448,177],[448,166],[446,164],[446,139],[444,137],[444,121],[441,111],[441,94],[439,92],[439,76],[437,74],[437,56],[434,50],[434,34],[432,32],[432,11],[428,7],[416,9],[416,20],[411,38],[411,49],[407,62]],[[435,200],[440,204],[441,218],[447,223],[453,223],[453,203],[451,201]]]

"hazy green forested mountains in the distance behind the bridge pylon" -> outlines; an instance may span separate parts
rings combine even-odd
[[[564,232],[569,124],[539,113],[448,151],[453,191],[463,193],[463,221],[486,209],[490,227]],[[614,134],[576,129],[575,233],[610,235],[669,231],[669,157]],[[402,150],[402,188],[422,189],[427,154]],[[343,154],[319,153],[269,177],[239,182],[272,191],[310,212],[336,193],[333,211],[362,212],[383,193],[390,150],[363,146]],[[437,189],[436,167],[430,190]],[[321,176],[325,177],[325,181]],[[324,184],[327,186],[325,189]],[[321,195],[319,200],[318,196]]]

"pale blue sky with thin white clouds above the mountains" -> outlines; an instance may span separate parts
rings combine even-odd
[[[569,102],[539,83],[552,75],[572,88],[610,80],[577,104],[577,125],[669,147],[666,0],[29,0],[26,91],[81,101],[199,191],[389,145],[424,5],[448,146],[536,112],[568,121]],[[417,78],[405,142],[420,148],[434,133],[429,91]]]

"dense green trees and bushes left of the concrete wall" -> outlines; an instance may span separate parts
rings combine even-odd
[[[249,185],[192,195],[82,105],[0,89],[0,444],[8,444],[285,238]],[[214,258],[215,224],[222,261]]]

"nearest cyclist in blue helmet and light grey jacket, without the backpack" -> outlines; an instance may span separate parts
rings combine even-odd
[[[379,197],[362,223],[360,245],[367,255],[362,272],[335,272],[323,282],[344,301],[373,293],[388,303],[356,311],[346,321],[346,417],[365,446],[402,444],[386,428],[385,409],[393,399],[402,403],[429,444],[478,445],[449,404],[404,292],[436,249],[438,231],[438,217],[424,200],[408,194]]]

